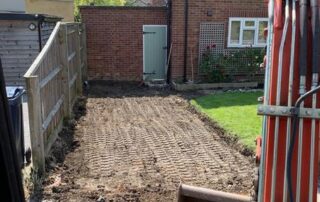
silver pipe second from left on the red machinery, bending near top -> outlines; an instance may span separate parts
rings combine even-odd
[[[278,78],[277,78],[277,95],[276,105],[280,105],[281,99],[281,80],[282,80],[282,66],[283,66],[283,53],[284,45],[287,39],[288,25],[290,20],[289,14],[289,0],[286,0],[285,6],[285,23],[281,37],[280,52],[279,52],[279,64],[278,64]],[[279,142],[279,116],[276,117],[276,123],[274,128],[274,145],[273,145],[273,160],[272,160],[272,183],[271,183],[271,201],[275,201],[275,189],[276,189],[276,175],[277,175],[277,161],[278,161],[278,142]]]

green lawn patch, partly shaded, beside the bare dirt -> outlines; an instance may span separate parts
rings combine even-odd
[[[262,92],[230,92],[191,100],[191,104],[250,149],[261,134],[262,117],[257,115],[257,98]]]

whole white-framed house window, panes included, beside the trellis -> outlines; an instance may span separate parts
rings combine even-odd
[[[267,18],[230,18],[228,47],[264,47],[263,30],[267,26]]]

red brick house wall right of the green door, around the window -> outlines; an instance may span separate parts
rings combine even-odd
[[[180,80],[183,76],[184,61],[184,2],[172,0],[172,77]],[[223,22],[228,33],[229,17],[267,17],[264,0],[189,0],[189,37],[187,57],[187,77],[191,78],[191,60],[194,73],[198,72],[199,31],[201,22]],[[208,12],[212,16],[208,16]],[[225,37],[227,39],[227,36]],[[191,49],[193,55],[191,58]]]

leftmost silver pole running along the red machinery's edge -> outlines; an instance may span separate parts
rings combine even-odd
[[[274,18],[274,0],[270,0],[268,4],[268,37],[267,37],[267,62],[264,80],[264,104],[269,103],[269,83],[270,83],[270,67],[271,67],[271,44],[273,38],[273,18]],[[262,148],[261,148],[261,163],[259,168],[259,188],[258,188],[258,202],[263,202],[264,182],[265,182],[265,155],[266,155],[266,141],[267,141],[267,117],[263,116],[262,124]]]

